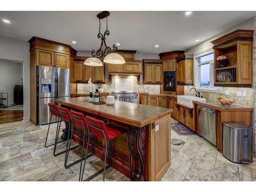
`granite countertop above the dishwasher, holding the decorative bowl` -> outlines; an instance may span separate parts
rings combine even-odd
[[[213,108],[219,111],[253,111],[253,108],[248,108],[246,106],[233,105],[223,106],[220,102],[210,101],[206,99],[206,101],[193,101],[195,104],[200,104],[207,106],[209,108]]]

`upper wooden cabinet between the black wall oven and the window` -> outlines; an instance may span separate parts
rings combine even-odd
[[[177,85],[194,85],[194,57],[191,53],[184,53],[176,57],[177,62]]]

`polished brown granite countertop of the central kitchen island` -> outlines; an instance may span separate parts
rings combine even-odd
[[[143,127],[149,123],[155,122],[157,119],[160,119],[173,111],[172,109],[160,108],[158,106],[123,101],[115,101],[114,106],[93,104],[89,102],[89,97],[61,98],[55,99],[54,101],[70,106],[71,108],[138,127]]]

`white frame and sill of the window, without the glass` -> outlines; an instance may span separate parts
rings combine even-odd
[[[214,53],[213,49],[208,49],[206,51],[202,51],[200,53],[194,54],[194,79],[195,79],[195,88],[200,91],[205,91],[205,92],[214,92],[214,93],[223,93],[223,88],[222,87],[215,87],[214,86],[214,73],[215,73],[215,68],[214,68],[214,60],[210,61],[205,61],[198,63],[197,58],[202,57],[205,55],[209,55]],[[210,87],[209,88],[201,88],[200,87],[200,66],[205,65],[209,63],[210,65]]]

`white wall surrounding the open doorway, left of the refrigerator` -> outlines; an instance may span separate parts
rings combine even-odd
[[[23,61],[24,120],[30,117],[30,53],[29,43],[0,36],[0,59]]]

